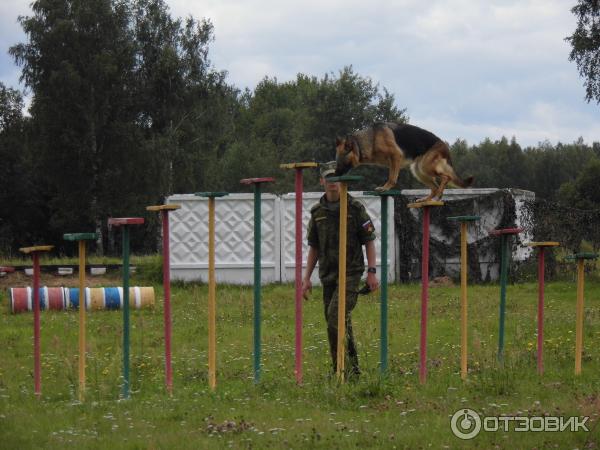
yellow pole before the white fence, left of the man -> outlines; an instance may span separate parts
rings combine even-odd
[[[216,373],[216,288],[215,288],[215,199],[208,199],[208,384],[217,386]]]

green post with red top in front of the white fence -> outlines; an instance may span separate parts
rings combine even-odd
[[[261,184],[272,183],[274,178],[245,178],[240,183],[254,185],[254,382],[260,381],[260,283],[261,283],[261,254],[260,254],[260,223],[261,223]]]

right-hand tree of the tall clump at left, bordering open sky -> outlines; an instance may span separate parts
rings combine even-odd
[[[205,178],[236,91],[208,59],[213,25],[173,19],[162,0],[134,3],[136,101],[163,195]],[[175,176],[177,174],[177,176]]]

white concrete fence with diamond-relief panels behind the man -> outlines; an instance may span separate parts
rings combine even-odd
[[[377,266],[381,268],[381,218],[379,197],[351,192],[365,205],[377,232]],[[306,227],[310,208],[323,195],[303,194],[302,245],[303,266],[308,244]],[[293,282],[295,273],[295,194],[262,194],[261,282]],[[388,198],[388,279],[395,277],[395,232],[393,199]],[[208,199],[193,194],[173,195],[167,203],[181,209],[170,213],[171,278],[208,280]],[[215,268],[220,283],[252,284],[254,281],[254,195],[230,194],[215,199]],[[318,282],[318,269],[313,282]]]

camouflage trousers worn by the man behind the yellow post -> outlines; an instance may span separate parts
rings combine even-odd
[[[345,372],[358,375],[358,354],[356,343],[352,333],[351,313],[358,300],[358,285],[360,274],[346,277],[346,357]],[[327,336],[329,338],[329,350],[333,362],[333,371],[337,371],[337,336],[338,336],[338,285],[327,284],[323,286],[323,305],[325,307],[325,321],[327,322]]]

